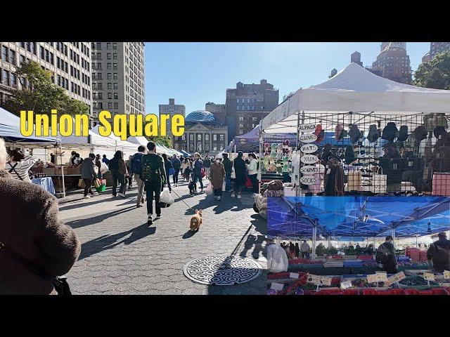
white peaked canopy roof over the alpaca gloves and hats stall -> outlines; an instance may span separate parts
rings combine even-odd
[[[397,83],[352,62],[328,81],[298,90],[261,121],[261,128],[264,133],[296,133],[297,124],[316,123],[319,114],[330,130],[339,122],[366,131],[365,119],[377,114],[411,116],[414,127],[422,124],[418,116],[433,112],[450,112],[450,91]]]

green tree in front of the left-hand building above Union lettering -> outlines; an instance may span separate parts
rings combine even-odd
[[[34,61],[22,62],[15,72],[18,79],[26,79],[30,88],[15,89],[13,96],[3,107],[19,116],[21,110],[50,114],[52,109],[60,114],[88,114],[89,108],[79,100],[70,98],[63,88],[53,84],[51,72],[43,70]]]

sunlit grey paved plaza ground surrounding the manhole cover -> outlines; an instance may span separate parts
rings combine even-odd
[[[204,180],[205,186],[207,180]],[[127,199],[110,190],[91,199],[72,195],[60,202],[60,216],[82,242],[82,253],[70,270],[74,294],[264,294],[266,272],[235,286],[196,284],[184,276],[184,265],[205,255],[253,258],[266,267],[266,221],[252,209],[253,198],[224,193],[222,201],[205,193],[190,197],[181,183],[174,188],[193,209],[203,209],[203,225],[190,234],[191,209],[179,197],[162,218],[147,225],[146,206],[136,209],[136,187]]]

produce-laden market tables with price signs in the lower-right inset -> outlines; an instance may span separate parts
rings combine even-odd
[[[398,271],[387,274],[373,256],[325,256],[289,261],[288,272],[269,273],[268,295],[450,295],[450,272],[398,257]]]

